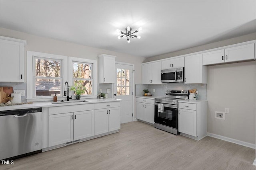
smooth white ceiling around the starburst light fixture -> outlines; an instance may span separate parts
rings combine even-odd
[[[0,27],[152,57],[256,32],[256,0],[0,0]]]

